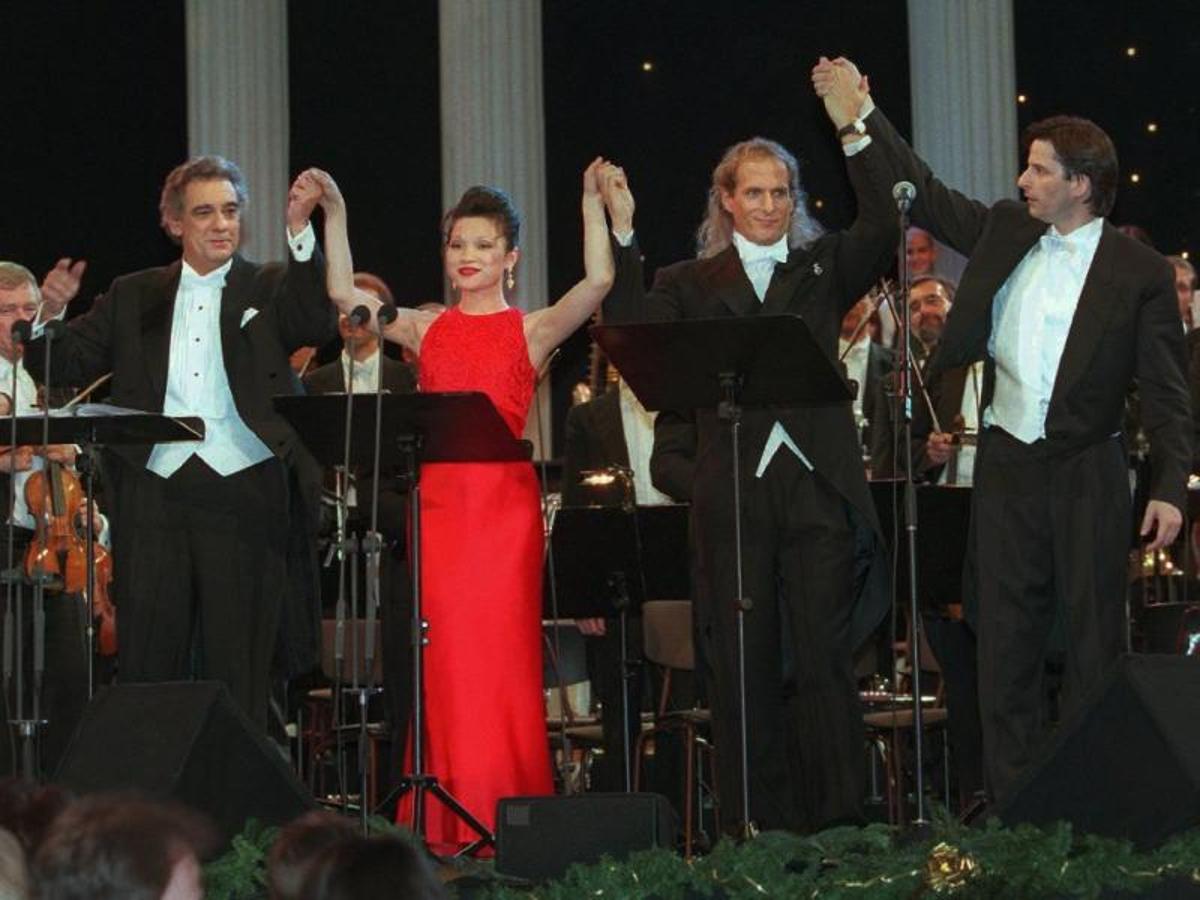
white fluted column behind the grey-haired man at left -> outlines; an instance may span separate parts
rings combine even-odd
[[[242,253],[286,253],[288,19],[286,0],[186,0],[187,148],[233,160],[250,184]]]

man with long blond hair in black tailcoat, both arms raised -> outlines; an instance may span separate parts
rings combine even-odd
[[[883,274],[899,241],[892,173],[875,116],[827,113],[842,140],[858,216],[824,233],[809,216],[796,158],[754,138],[713,170],[698,258],[660,269],[650,290],[634,241],[634,197],[608,167],[617,282],[607,323],[796,314],[829,356],[842,316]],[[880,200],[880,196],[883,200]],[[742,816],[734,506],[728,425],[697,413],[692,527],[709,590],[695,614],[712,648],[714,730],[726,822]],[[882,541],[851,403],[749,408],[742,419],[742,510],[750,820],[811,830],[860,820],[863,721],[852,650],[882,618]],[[863,590],[871,584],[871,590]],[[859,600],[863,600],[859,602]]]

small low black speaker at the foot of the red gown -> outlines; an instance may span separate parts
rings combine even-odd
[[[607,853],[674,846],[674,811],[656,793],[505,797],[496,833],[496,871],[530,881],[557,878],[571,863]]]

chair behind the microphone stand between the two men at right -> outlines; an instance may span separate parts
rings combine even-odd
[[[905,823],[905,786],[904,746],[911,742],[913,732],[913,708],[911,688],[911,656],[908,644],[911,631],[905,641],[895,644],[895,691],[865,692],[862,695],[868,712],[863,714],[866,726],[869,746],[883,760],[887,781],[888,821],[892,824]],[[942,668],[929,647],[924,630],[920,632],[920,671],[937,677],[937,690],[934,695],[924,695],[922,702],[922,725],[926,732],[941,732],[943,791],[947,805],[950,800],[950,750],[947,722],[949,714],[946,708]]]

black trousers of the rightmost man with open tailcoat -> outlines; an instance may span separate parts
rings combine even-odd
[[[984,775],[1003,796],[1045,737],[1043,673],[1056,618],[1068,712],[1121,652],[1129,476],[1121,440],[1069,456],[983,433],[972,546],[978,566]]]

